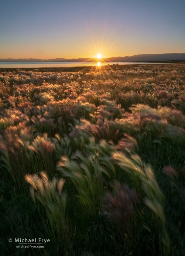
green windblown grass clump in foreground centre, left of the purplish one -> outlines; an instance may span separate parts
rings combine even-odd
[[[81,152],[76,152],[73,159],[63,156],[58,162],[57,169],[70,178],[78,191],[78,199],[82,209],[87,214],[93,216],[98,213],[98,207],[102,200],[104,187],[102,182],[103,174],[109,177],[109,174],[103,168],[96,155],[84,156]]]

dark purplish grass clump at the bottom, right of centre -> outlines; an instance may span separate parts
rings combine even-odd
[[[113,194],[105,193],[103,214],[110,222],[116,223],[117,236],[127,253],[133,252],[133,239],[140,229],[138,222],[137,194],[128,186],[116,182]]]

